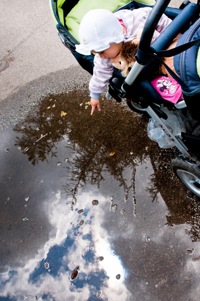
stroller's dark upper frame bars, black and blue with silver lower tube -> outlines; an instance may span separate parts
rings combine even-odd
[[[142,68],[152,59],[152,54],[155,52],[155,49],[158,51],[166,49],[165,47],[170,45],[176,35],[192,21],[192,18],[195,20],[199,18],[199,6],[194,3],[190,3],[181,10],[173,22],[171,22],[150,45],[154,30],[169,2],[170,0],[157,0],[156,4],[152,8],[141,34],[140,43],[135,56],[136,62],[121,87],[123,92],[126,90],[125,84],[131,85]]]

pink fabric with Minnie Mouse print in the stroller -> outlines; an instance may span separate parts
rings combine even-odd
[[[173,103],[183,100],[181,87],[172,77],[160,76],[151,85],[165,100]]]

